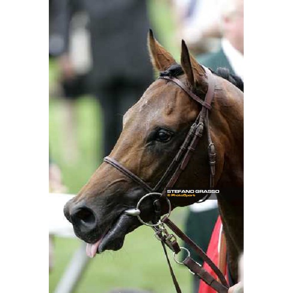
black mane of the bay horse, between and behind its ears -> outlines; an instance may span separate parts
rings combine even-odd
[[[242,79],[231,73],[230,70],[228,68],[223,68],[223,67],[218,67],[217,70],[211,70],[209,68],[209,70],[214,73],[217,76],[220,76],[222,78],[224,78],[225,80],[229,81],[231,84],[234,84],[236,87],[238,87],[242,92],[244,92],[244,83],[242,81]],[[172,76],[172,77],[176,77],[179,75],[184,74],[184,71],[181,67],[180,64],[173,64],[171,65],[167,70],[160,72],[160,76]]]

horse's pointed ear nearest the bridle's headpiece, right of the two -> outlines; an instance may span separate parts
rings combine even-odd
[[[189,54],[188,48],[184,40],[181,45],[181,66],[187,76],[188,84],[193,88],[195,83],[205,77],[205,71],[202,66]]]

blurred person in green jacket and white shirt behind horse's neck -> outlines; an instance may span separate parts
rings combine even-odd
[[[217,5],[221,16],[221,47],[217,52],[198,56],[197,60],[212,70],[216,70],[219,67],[227,68],[231,73],[243,79],[243,0],[218,0]],[[215,200],[207,200],[201,204],[193,204],[188,211],[186,233],[204,251],[208,250],[209,240],[218,214]],[[187,245],[186,247],[188,248]],[[202,263],[197,255],[194,254],[192,256],[197,262]],[[208,288],[208,286],[206,287]],[[199,292],[199,279],[196,276],[194,276],[193,290],[194,292]],[[206,292],[208,291],[202,291],[201,293]]]

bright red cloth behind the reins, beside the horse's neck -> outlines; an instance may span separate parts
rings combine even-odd
[[[219,240],[220,240],[220,232],[222,230],[222,221],[220,216],[217,219],[214,230],[212,231],[209,247],[207,251],[207,255],[213,261],[213,263],[218,266],[218,256],[219,256]],[[208,271],[215,279],[217,278],[216,274],[210,269],[209,265],[204,263],[204,269]],[[227,272],[225,272],[226,280],[228,280]],[[199,284],[199,293],[217,293],[213,290],[209,285],[207,285],[204,281],[200,281]]]

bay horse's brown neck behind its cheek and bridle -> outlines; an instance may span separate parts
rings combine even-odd
[[[241,97],[236,91],[227,98],[228,103],[232,100],[233,106],[222,116],[229,127],[224,130],[228,140],[217,188],[220,189],[218,206],[227,240],[229,269],[233,281],[237,281],[238,258],[243,251],[243,94]]]

